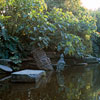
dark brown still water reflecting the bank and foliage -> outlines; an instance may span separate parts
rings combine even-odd
[[[1,82],[0,100],[100,100],[100,65],[48,72],[36,84]]]

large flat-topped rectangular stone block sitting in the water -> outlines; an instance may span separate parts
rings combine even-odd
[[[46,73],[43,70],[22,70],[11,74],[12,82],[38,82]]]

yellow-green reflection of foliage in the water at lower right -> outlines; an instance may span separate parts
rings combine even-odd
[[[65,91],[63,92],[63,100],[93,100],[92,99],[92,88],[91,88],[91,71],[81,71],[81,69],[76,71],[73,69],[69,75],[60,73],[57,74],[58,84],[61,85],[63,82],[63,87]],[[70,72],[70,71],[69,71]],[[64,85],[65,84],[65,85]],[[60,87],[61,88],[61,87]]]

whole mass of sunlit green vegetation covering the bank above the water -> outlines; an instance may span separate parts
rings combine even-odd
[[[93,39],[100,38],[99,14],[83,8],[80,0],[2,0],[0,59],[20,63],[32,46],[65,56],[93,54],[98,48]]]

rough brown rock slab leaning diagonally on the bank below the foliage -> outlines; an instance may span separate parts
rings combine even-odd
[[[32,51],[33,57],[39,69],[53,70],[50,59],[47,57],[44,50],[37,48]]]

